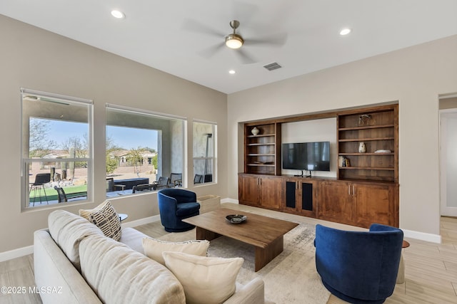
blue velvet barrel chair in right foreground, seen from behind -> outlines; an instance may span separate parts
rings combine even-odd
[[[316,269],[323,285],[349,303],[383,303],[398,275],[403,231],[372,224],[369,231],[316,225]]]

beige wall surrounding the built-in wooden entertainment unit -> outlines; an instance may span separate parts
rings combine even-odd
[[[238,122],[398,100],[400,226],[437,238],[438,95],[457,92],[456,54],[451,36],[229,95],[229,196],[242,170]]]

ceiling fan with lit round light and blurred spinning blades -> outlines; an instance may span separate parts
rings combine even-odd
[[[196,31],[199,33],[208,33],[212,36],[217,36],[218,38],[224,37],[224,41],[217,43],[214,46],[205,48],[202,51],[199,51],[201,56],[205,58],[211,58],[215,53],[224,49],[224,47],[230,48],[235,51],[236,55],[241,59],[242,63],[256,63],[256,59],[250,56],[245,50],[245,46],[255,46],[255,45],[266,45],[266,46],[282,46],[286,43],[287,34],[286,33],[269,33],[266,37],[256,39],[256,38],[243,38],[240,33],[236,33],[236,30],[240,26],[240,21],[232,20],[230,21],[230,27],[233,29],[232,33],[224,34],[214,31],[214,29],[205,26],[197,21],[188,21],[185,28],[191,31]],[[241,48],[243,46],[243,48]]]

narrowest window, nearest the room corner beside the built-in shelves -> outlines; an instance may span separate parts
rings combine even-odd
[[[217,125],[194,120],[194,184],[216,182]]]

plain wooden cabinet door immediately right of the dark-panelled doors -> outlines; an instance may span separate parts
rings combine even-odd
[[[347,182],[321,182],[319,184],[319,219],[343,224],[353,223],[353,196]]]

